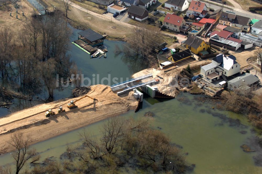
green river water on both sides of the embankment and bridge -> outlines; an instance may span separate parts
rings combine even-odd
[[[80,30],[73,31],[72,40],[75,40]],[[130,78],[133,73],[143,67],[139,67],[139,62],[130,61],[121,55],[114,55],[114,46],[122,44],[124,43],[106,40],[105,45],[109,50],[107,59],[89,59],[89,55],[73,45],[71,45],[70,54],[85,77],[91,77],[92,74],[107,77],[110,73],[111,77]],[[70,89],[63,92],[57,90],[55,100],[69,97],[70,93]],[[181,97],[184,100],[179,100]],[[254,160],[262,156],[261,147],[255,140],[258,133],[253,130],[254,128],[245,116],[229,111],[219,111],[216,108],[213,110],[211,104],[205,104],[196,97],[188,93],[181,93],[172,100],[146,97],[143,100],[143,108],[139,112],[129,111],[118,117],[139,118],[143,117],[145,112],[153,112],[154,119],[151,127],[160,129],[171,138],[172,143],[183,147],[181,149],[183,153],[188,153],[187,162],[195,164],[193,173],[262,173],[262,167],[256,165]],[[5,111],[5,108],[2,108],[2,111]],[[1,113],[0,116],[8,114],[8,112]],[[100,121],[85,128],[91,134],[99,136],[99,127],[102,123],[103,121]],[[81,131],[83,128],[36,143],[32,147],[40,153],[41,160],[51,156],[59,159],[67,144],[79,143],[78,133]],[[241,134],[240,131],[247,133]],[[249,145],[256,152],[245,153],[240,148],[242,144]],[[10,153],[0,155],[0,165],[6,164],[14,166]]]

